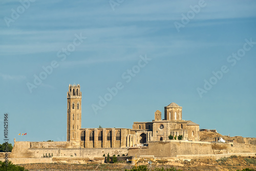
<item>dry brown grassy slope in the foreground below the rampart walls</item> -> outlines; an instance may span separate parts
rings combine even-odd
[[[133,165],[120,162],[117,164],[64,164],[64,163],[38,163],[38,164],[18,164],[24,166],[29,170],[37,169],[72,169],[72,170],[124,170],[131,169]],[[165,161],[157,160],[149,165],[147,161],[140,160],[138,165],[147,165],[148,168],[170,168],[176,167],[181,170],[190,170],[190,171],[203,171],[203,170],[242,170],[243,168],[254,168],[256,169],[256,156],[255,157],[239,157],[231,156],[224,157],[219,160],[211,159],[200,159],[200,160],[191,160],[189,161]]]

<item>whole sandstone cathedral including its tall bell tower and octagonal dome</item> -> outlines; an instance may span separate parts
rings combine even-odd
[[[126,128],[81,128],[80,85],[69,85],[67,92],[67,141],[81,148],[125,148],[146,146],[149,141],[170,141],[168,136],[183,136],[182,140],[199,141],[199,125],[182,119],[182,107],[171,103],[162,113],[157,110],[150,122],[134,122]]]

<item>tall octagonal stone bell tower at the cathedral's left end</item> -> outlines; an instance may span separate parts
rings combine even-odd
[[[82,92],[80,85],[69,85],[67,92],[68,113],[67,113],[67,141],[79,141],[79,129],[81,128],[81,100]]]

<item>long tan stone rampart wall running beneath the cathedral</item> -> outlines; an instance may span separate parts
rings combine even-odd
[[[87,162],[88,159],[102,158],[110,154],[126,156],[154,156],[155,158],[219,158],[237,154],[255,154],[256,145],[241,143],[210,143],[202,141],[150,141],[148,146],[141,148],[80,148],[72,142],[29,142],[14,143],[9,156],[14,164],[21,163],[52,163]],[[3,159],[3,158],[2,158]],[[1,159],[1,160],[2,160]]]

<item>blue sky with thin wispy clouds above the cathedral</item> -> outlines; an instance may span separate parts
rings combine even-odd
[[[0,143],[5,113],[10,143],[66,141],[69,84],[81,86],[82,128],[132,128],[156,110],[163,119],[175,102],[200,129],[256,137],[255,9],[255,1],[1,1]]]

